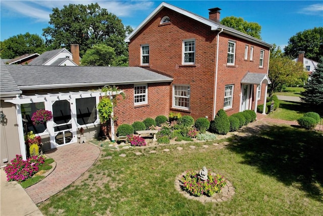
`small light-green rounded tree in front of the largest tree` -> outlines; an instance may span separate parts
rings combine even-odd
[[[117,66],[114,65],[115,58],[115,49],[104,44],[98,44],[86,51],[81,60],[81,64],[89,66]]]

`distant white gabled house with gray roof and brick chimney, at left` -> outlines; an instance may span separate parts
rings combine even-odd
[[[30,65],[51,65],[51,66],[77,66],[80,64],[79,45],[71,45],[70,53],[65,48],[44,52],[33,61]]]

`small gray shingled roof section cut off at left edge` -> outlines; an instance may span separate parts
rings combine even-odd
[[[20,94],[21,90],[18,88],[15,80],[9,73],[3,61],[0,61],[0,95]]]

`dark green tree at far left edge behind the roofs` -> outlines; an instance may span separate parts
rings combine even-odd
[[[16,57],[46,51],[45,42],[38,34],[17,34],[0,43],[1,58],[14,59]]]

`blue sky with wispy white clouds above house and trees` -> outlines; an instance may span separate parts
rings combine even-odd
[[[52,8],[97,2],[117,15],[124,25],[137,27],[163,1],[6,1],[1,0],[3,41],[26,32],[42,34],[49,26]],[[261,25],[262,40],[284,48],[291,36],[305,29],[323,26],[323,1],[164,1],[208,18],[208,9],[221,8],[221,18],[242,17]]]

